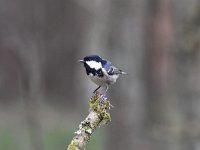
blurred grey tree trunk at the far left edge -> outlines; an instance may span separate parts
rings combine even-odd
[[[3,5],[9,7],[9,3]],[[38,5],[35,1],[22,1],[14,3],[12,9],[5,9],[6,19],[1,24],[4,37],[1,38],[2,47],[9,54],[14,55],[14,63],[17,63],[16,71],[8,74],[10,79],[17,75],[17,84],[20,88],[19,97],[22,100],[24,113],[30,137],[30,149],[43,149],[41,126],[38,121],[38,102],[42,99],[42,61],[43,52],[41,35],[41,21],[37,17]],[[42,14],[40,14],[42,15]],[[2,16],[1,16],[2,17]],[[26,130],[26,127],[24,127]]]

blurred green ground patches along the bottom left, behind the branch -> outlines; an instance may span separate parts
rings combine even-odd
[[[20,131],[21,130],[21,131]],[[0,150],[27,150],[25,147],[29,146],[30,139],[27,138],[26,129],[17,129],[17,132],[11,129],[0,130]],[[101,129],[100,129],[101,130]],[[44,150],[61,150],[66,149],[73,136],[74,127],[67,127],[65,129],[49,129],[43,132]],[[87,145],[87,150],[102,150],[102,131],[97,131],[90,139]],[[21,133],[21,134],[16,134]],[[67,141],[67,142],[66,142]],[[24,147],[24,145],[26,145]]]

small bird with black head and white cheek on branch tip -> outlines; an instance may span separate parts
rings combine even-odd
[[[109,85],[114,84],[120,75],[127,74],[98,55],[85,56],[79,62],[83,63],[87,76],[98,85],[93,93],[96,93],[101,87],[106,87],[104,96],[108,91]]]

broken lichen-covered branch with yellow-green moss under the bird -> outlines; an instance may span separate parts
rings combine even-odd
[[[86,144],[89,142],[92,133],[101,124],[107,124],[111,121],[108,110],[112,105],[106,98],[100,94],[95,94],[89,101],[89,114],[79,124],[78,130],[72,139],[67,150],[85,150]]]

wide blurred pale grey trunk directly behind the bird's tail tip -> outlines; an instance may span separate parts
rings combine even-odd
[[[147,3],[143,0],[111,1],[108,54],[114,65],[129,74],[110,88],[112,122],[106,149],[148,149],[144,136],[145,85],[143,61],[144,23]]]

